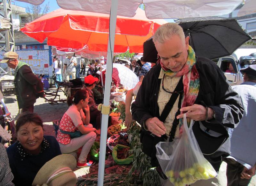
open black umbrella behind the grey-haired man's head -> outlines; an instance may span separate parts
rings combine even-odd
[[[236,19],[187,18],[181,19],[178,23],[185,35],[190,36],[189,44],[195,50],[196,55],[209,59],[230,55],[243,43],[252,39]],[[149,53],[152,53],[152,46],[145,45],[145,43],[143,55],[148,56],[148,48]]]

